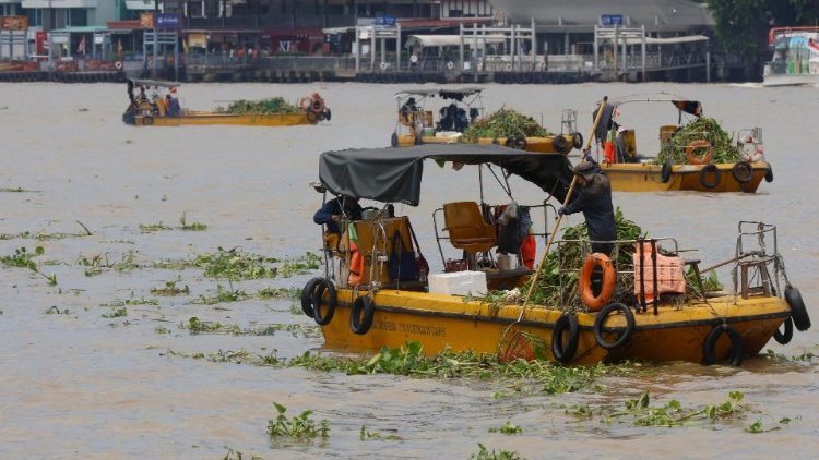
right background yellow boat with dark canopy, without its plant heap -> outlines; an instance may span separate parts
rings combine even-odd
[[[708,141],[692,143],[685,148],[685,152],[677,153],[680,157],[685,154],[689,162],[687,165],[672,165],[670,162],[658,165],[653,157],[639,155],[634,130],[625,126],[621,114],[621,106],[632,102],[670,102],[677,109],[677,124],[662,125],[658,131],[661,149],[667,154],[673,153],[672,137],[682,128],[684,114],[697,119],[702,114],[702,105],[699,101],[668,93],[629,96],[606,104],[595,132],[598,145],[604,146],[605,140],[616,138],[619,131],[622,131],[625,147],[625,152],[617,152],[615,141],[610,147],[612,156],[604,158],[598,155],[596,159],[601,170],[608,177],[612,190],[755,193],[763,179],[767,182],[773,181],[773,169],[763,155],[760,128],[740,130],[737,133],[737,148],[741,157],[741,160],[737,162],[711,162],[711,145]],[[702,158],[696,156],[698,152],[704,152],[705,155]]]

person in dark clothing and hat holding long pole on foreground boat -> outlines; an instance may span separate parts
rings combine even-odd
[[[562,215],[583,213],[589,227],[589,239],[592,241],[592,252],[612,255],[617,240],[617,228],[614,220],[612,205],[612,185],[606,174],[597,169],[592,161],[581,161],[574,167],[580,191],[575,198],[558,213]]]

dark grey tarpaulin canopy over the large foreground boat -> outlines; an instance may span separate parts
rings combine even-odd
[[[534,183],[560,202],[565,199],[572,180],[571,166],[565,155],[476,144],[325,152],[319,159],[319,179],[336,195],[417,206],[425,159],[497,165]]]

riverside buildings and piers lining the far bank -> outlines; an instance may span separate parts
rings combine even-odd
[[[200,11],[192,2],[182,8],[182,2],[168,0],[141,10],[139,20],[132,14],[106,25],[56,23],[37,32],[37,56],[32,55],[37,59],[22,61],[9,55],[35,52],[24,50],[28,40],[14,41],[16,32],[3,31],[0,61],[8,62],[0,62],[0,71],[48,74],[0,80],[93,81],[60,74],[90,70],[191,82],[278,83],[747,77],[739,59],[712,45],[713,17],[691,0],[273,3],[227,9],[219,2],[218,11]],[[20,17],[3,22],[5,28],[14,25],[25,34],[28,25]],[[39,55],[47,55],[47,62]]]

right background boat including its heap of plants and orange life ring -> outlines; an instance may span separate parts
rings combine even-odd
[[[640,154],[638,130],[624,121],[627,118],[624,106],[652,102],[667,104],[677,111],[676,123],[658,126],[661,152],[656,156]],[[692,135],[696,138],[687,140]],[[733,140],[713,119],[702,118],[700,101],[670,93],[609,100],[603,108],[595,137],[604,152],[604,156],[597,158],[600,168],[614,191],[755,193],[763,179],[773,181],[773,170],[764,156],[761,128],[739,130]],[[722,150],[731,150],[733,155]],[[726,160],[726,157],[729,158]]]

